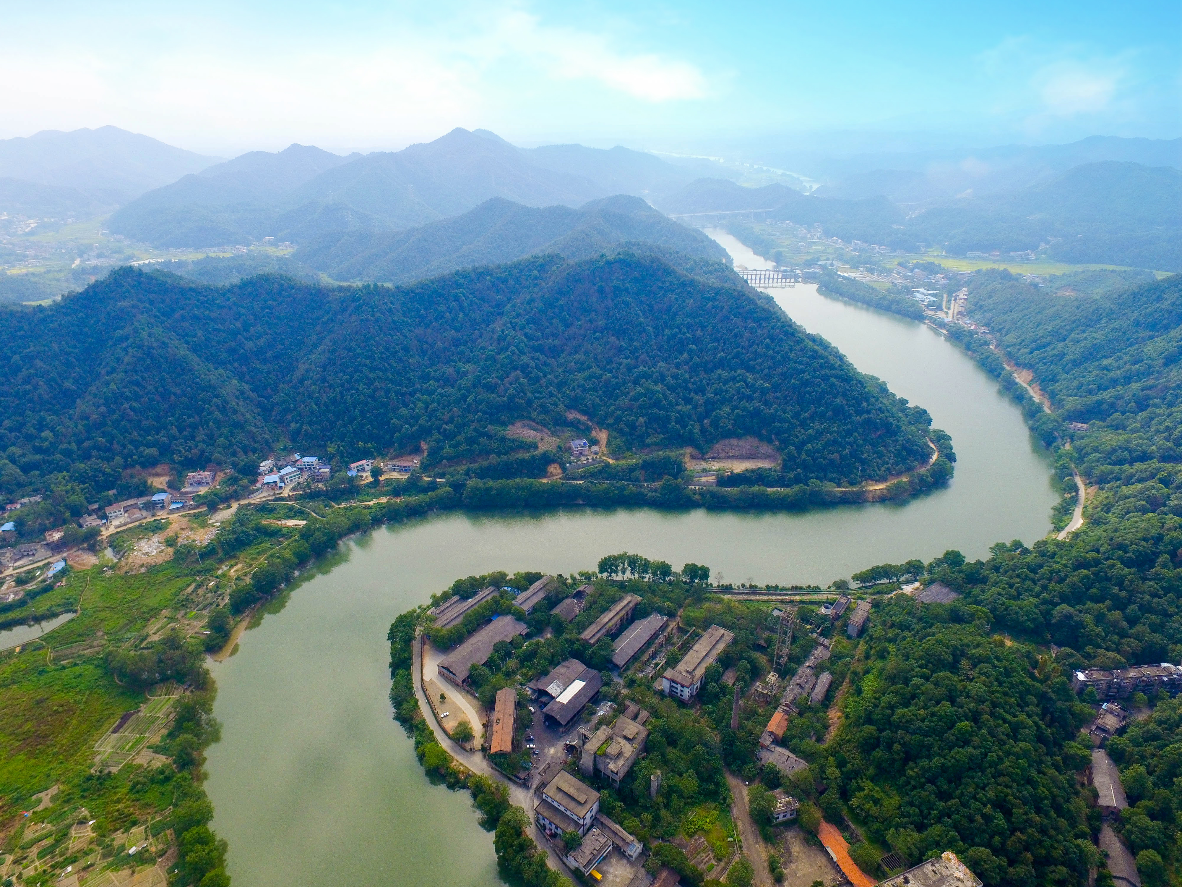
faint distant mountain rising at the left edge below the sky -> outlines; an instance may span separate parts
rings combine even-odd
[[[0,212],[109,212],[217,160],[117,127],[0,140]]]

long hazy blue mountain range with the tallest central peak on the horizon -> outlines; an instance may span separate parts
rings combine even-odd
[[[394,153],[338,157],[292,145],[245,155],[145,194],[111,218],[111,229],[169,247],[305,242],[329,231],[405,229],[492,198],[573,207],[687,181],[677,167],[625,148],[524,150],[485,130],[455,129]]]

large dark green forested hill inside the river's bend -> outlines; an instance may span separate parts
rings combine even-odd
[[[281,439],[336,457],[470,459],[567,409],[613,447],[754,435],[806,478],[927,461],[930,421],[741,286],[652,255],[556,257],[403,287],[260,276],[217,287],[123,268],[0,312],[0,485],[170,461],[238,465]]]

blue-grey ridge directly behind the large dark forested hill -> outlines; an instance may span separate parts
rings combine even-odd
[[[294,258],[337,280],[404,283],[531,254],[586,259],[630,241],[730,264],[726,250],[702,232],[624,195],[578,209],[525,207],[494,198],[463,215],[409,231],[326,232],[303,245]]]

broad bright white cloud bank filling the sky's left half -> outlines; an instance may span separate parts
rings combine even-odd
[[[401,147],[453,127],[572,123],[584,105],[707,95],[694,65],[514,6],[288,39],[259,22],[0,37],[0,137],[108,123],[195,150]],[[439,20],[442,19],[442,20]],[[225,26],[222,26],[225,25]],[[162,38],[163,34],[163,38]],[[103,46],[96,51],[95,46]],[[530,124],[526,124],[530,125]]]

